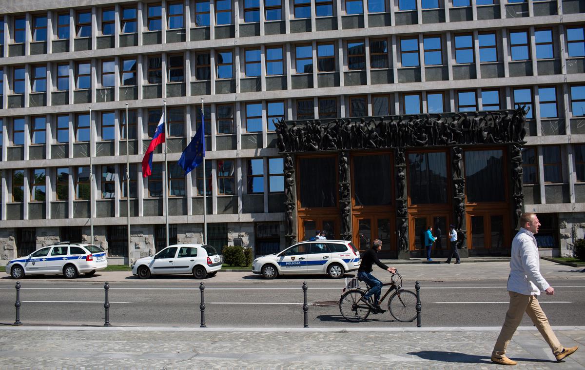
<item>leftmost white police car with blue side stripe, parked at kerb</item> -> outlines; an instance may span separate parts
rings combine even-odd
[[[6,272],[13,279],[22,279],[25,275],[50,274],[63,274],[67,279],[75,279],[80,273],[94,275],[106,267],[106,252],[98,246],[60,242],[38,249],[26,257],[8,261]]]

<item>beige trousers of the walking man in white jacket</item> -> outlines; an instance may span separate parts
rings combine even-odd
[[[491,355],[496,358],[501,358],[506,353],[506,347],[512,340],[512,335],[518,328],[518,325],[522,321],[524,312],[531,318],[532,323],[535,324],[542,337],[550,346],[553,354],[559,354],[563,351],[563,346],[560,345],[559,340],[556,338],[555,333],[552,332],[548,318],[541,309],[541,305],[538,303],[537,296],[525,296],[524,294],[516,292],[508,292],[510,294],[510,306],[506,313],[506,320],[504,326],[500,331],[498,340],[495,341],[494,351]]]

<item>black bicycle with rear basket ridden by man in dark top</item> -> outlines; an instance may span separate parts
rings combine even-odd
[[[366,283],[367,289],[359,286],[359,279],[346,279],[346,287],[343,289],[343,294],[339,299],[339,311],[342,316],[353,323],[364,321],[370,315],[372,307],[374,306],[374,296],[369,299],[370,305],[362,301],[364,294],[369,292],[370,286]],[[402,276],[398,272],[393,273],[390,283],[384,283],[382,289],[389,286],[386,293],[384,293],[378,306],[386,299],[390,292],[394,291],[388,300],[388,311],[392,317],[402,323],[409,323],[417,318],[417,294],[411,290],[401,289]]]

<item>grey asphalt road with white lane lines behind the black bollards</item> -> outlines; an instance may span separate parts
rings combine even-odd
[[[239,282],[205,280],[205,319],[208,327],[302,327],[303,281],[308,284],[310,327],[398,327],[389,313],[349,323],[340,316],[338,300],[343,280],[322,277]],[[585,326],[585,280],[548,279],[554,296],[541,295],[553,326]],[[499,326],[508,294],[505,280],[427,281],[422,283],[423,326]],[[0,281],[0,323],[15,320],[14,280]],[[100,282],[23,280],[20,320],[29,325],[89,325],[104,323],[104,285]],[[413,281],[404,287],[413,289]],[[109,319],[114,326],[198,327],[199,280],[173,276],[111,283]],[[314,303],[318,303],[315,305]],[[522,325],[531,322],[525,316]]]

